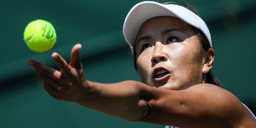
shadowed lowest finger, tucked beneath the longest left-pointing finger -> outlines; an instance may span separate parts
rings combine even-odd
[[[63,86],[57,83],[56,81],[50,79],[42,73],[38,73],[38,75],[44,80],[44,83],[51,86],[56,91],[63,91]]]

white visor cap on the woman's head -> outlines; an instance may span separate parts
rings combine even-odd
[[[211,34],[207,25],[195,13],[180,5],[163,5],[157,2],[145,1],[137,3],[127,14],[124,21],[124,37],[126,42],[130,45],[132,52],[134,48],[135,38],[141,25],[147,20],[159,16],[177,17],[188,23],[189,25],[198,28],[202,31],[202,33],[204,33],[212,47]]]

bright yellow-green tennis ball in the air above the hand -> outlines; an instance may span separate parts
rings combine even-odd
[[[55,29],[45,20],[34,20],[25,28],[24,41],[30,50],[46,52],[54,46],[56,41]]]

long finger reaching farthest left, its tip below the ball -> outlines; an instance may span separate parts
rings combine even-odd
[[[61,73],[58,70],[55,70],[54,68],[50,68],[49,66],[46,66],[35,60],[28,60],[28,65],[33,66],[33,68],[35,68],[35,70],[38,73],[42,73],[50,77],[51,79],[54,79],[54,80],[60,79]]]

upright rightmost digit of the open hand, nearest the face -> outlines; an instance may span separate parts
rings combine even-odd
[[[81,69],[82,65],[80,62],[79,50],[82,48],[81,44],[76,44],[72,50],[70,55],[70,66],[73,68]]]

